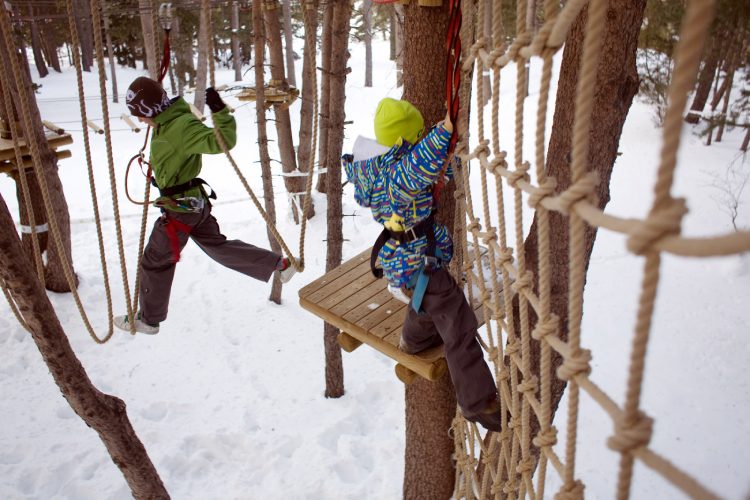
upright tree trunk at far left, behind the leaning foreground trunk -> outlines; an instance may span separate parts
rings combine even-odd
[[[17,57],[22,67],[26,63],[26,59],[22,54],[15,51],[15,48],[5,46],[4,40],[0,40],[0,57],[4,61],[4,68],[11,68],[11,62],[9,57]],[[63,191],[62,182],[57,171],[57,157],[54,151],[49,147],[49,143],[44,135],[44,127],[42,126],[42,119],[39,115],[39,108],[37,107],[36,100],[32,98],[34,95],[33,89],[31,88],[31,79],[25,71],[21,71],[21,78],[23,79],[22,87],[18,88],[17,84],[13,79],[10,81],[10,92],[12,95],[18,96],[19,99],[25,99],[29,103],[31,112],[31,123],[28,124],[31,133],[35,138],[32,140],[38,142],[39,153],[41,157],[41,167],[44,172],[47,186],[49,188],[50,202],[54,211],[54,216],[57,218],[57,224],[60,229],[61,246],[58,248],[56,244],[49,245],[47,249],[47,266],[45,268],[45,284],[48,290],[54,292],[69,292],[70,286],[68,281],[65,279],[63,272],[63,263],[61,259],[67,259],[70,268],[73,268],[71,244],[70,244],[70,215],[68,213],[68,203],[65,200],[65,193]],[[13,102],[15,106],[16,116],[21,117],[19,113],[20,107],[18,102]],[[19,120],[21,121],[21,120]],[[24,136],[25,136],[24,132]],[[32,194],[34,191],[32,191]],[[40,200],[32,199],[33,206],[42,206]],[[52,215],[47,214],[48,217]],[[41,218],[41,217],[40,217]],[[77,284],[77,283],[76,283]]]

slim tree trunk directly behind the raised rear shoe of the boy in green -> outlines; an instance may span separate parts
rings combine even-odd
[[[266,50],[263,33],[263,3],[253,2],[253,36],[255,38],[255,117],[258,122],[258,154],[263,176],[263,198],[268,217],[276,223],[276,203],[273,198],[273,181],[271,177],[271,156],[268,154],[268,135],[266,133],[266,94],[263,89],[263,63]],[[281,246],[271,231],[268,231],[271,250],[281,254]],[[279,273],[273,273],[273,285],[269,300],[281,304],[281,281]]]

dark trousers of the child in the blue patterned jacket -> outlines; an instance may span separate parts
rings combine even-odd
[[[456,398],[466,414],[481,412],[497,391],[482,347],[477,342],[477,318],[463,290],[445,269],[430,277],[422,299],[422,313],[407,306],[401,336],[410,349],[427,349],[442,339]]]

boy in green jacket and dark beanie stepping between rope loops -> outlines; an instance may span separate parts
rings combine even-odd
[[[140,311],[135,330],[156,334],[167,317],[169,294],[180,250],[188,238],[218,263],[261,281],[274,271],[282,282],[294,274],[286,258],[240,240],[227,240],[211,215],[209,198],[198,178],[201,155],[222,153],[213,129],[206,127],[190,111],[182,97],[169,99],[162,86],[146,77],[130,84],[125,100],[133,116],[153,128],[150,162],[161,196],[156,205],[162,216],[154,224],[141,259]],[[237,124],[218,92],[206,89],[206,104],[214,125],[227,148],[237,142]],[[115,318],[115,326],[130,331],[128,316]]]

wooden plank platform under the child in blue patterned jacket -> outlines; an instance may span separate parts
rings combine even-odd
[[[399,379],[409,383],[420,375],[437,380],[447,365],[443,347],[417,355],[398,348],[406,304],[388,292],[386,280],[370,272],[370,249],[344,262],[299,291],[300,305],[328,323],[338,327],[339,344],[351,352],[362,343],[395,360]],[[481,307],[475,307],[481,321]]]

